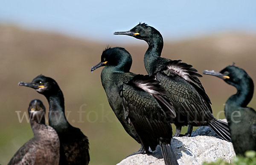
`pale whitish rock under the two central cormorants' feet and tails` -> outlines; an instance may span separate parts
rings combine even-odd
[[[179,165],[201,165],[203,162],[216,161],[217,158],[231,162],[236,155],[232,143],[221,140],[209,126],[199,127],[192,132],[192,137],[174,137],[172,149]],[[137,154],[123,159],[117,165],[164,165],[164,161],[161,149],[157,146],[152,155]]]

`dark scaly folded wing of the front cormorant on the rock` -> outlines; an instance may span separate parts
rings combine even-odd
[[[131,82],[130,82],[131,83]],[[159,103],[143,89],[133,84],[123,84],[123,105],[128,110],[127,120],[134,126],[145,150],[158,144],[158,137],[172,138],[171,124],[166,123],[166,114]],[[148,131],[152,130],[150,134]]]

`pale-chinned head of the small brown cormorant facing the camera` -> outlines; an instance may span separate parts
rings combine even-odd
[[[38,123],[45,123],[45,107],[41,100],[32,100],[29,103],[29,116]]]

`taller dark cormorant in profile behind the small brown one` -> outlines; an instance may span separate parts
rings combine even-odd
[[[44,95],[49,103],[49,125],[60,139],[60,165],[88,165],[89,143],[79,128],[68,123],[64,114],[64,96],[57,82],[39,75],[31,83],[20,82],[20,86],[31,87]]]

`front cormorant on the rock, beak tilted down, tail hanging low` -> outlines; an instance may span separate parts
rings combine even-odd
[[[124,128],[128,126],[125,130],[131,129],[128,134],[135,140],[139,138],[147,154],[149,147],[154,151],[159,144],[166,165],[177,165],[170,144],[172,125],[168,122],[176,114],[165,98],[167,93],[154,77],[129,72],[131,63],[131,55],[124,48],[107,48],[101,62],[91,71],[105,66],[101,73],[102,86],[113,111],[123,115],[119,120]]]

